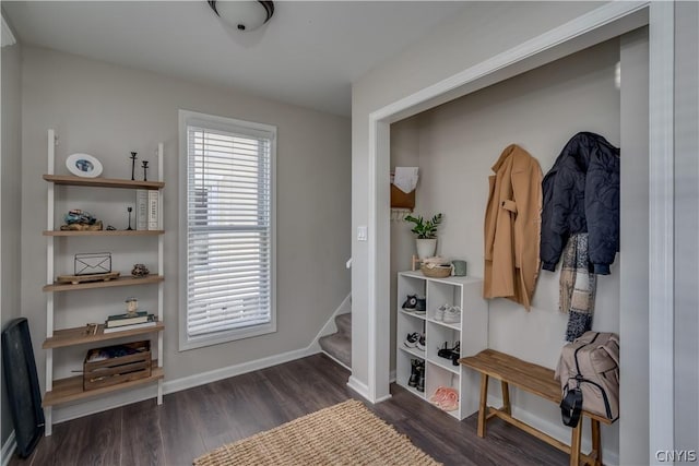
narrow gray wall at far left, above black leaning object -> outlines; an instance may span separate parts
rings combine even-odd
[[[0,235],[2,238],[2,290],[1,314],[2,327],[11,319],[20,315],[20,273],[22,261],[20,258],[20,219],[22,210],[19,208],[22,172],[22,107],[21,95],[21,60],[20,44],[2,47],[2,157],[0,165],[2,189],[2,206],[0,215]],[[0,378],[4,372],[0,372]],[[12,432],[12,421],[8,411],[8,399],[2,385],[2,431],[0,445],[4,445]]]

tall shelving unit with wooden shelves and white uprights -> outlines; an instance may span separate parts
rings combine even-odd
[[[46,339],[44,340],[43,348],[46,350],[46,393],[44,396],[44,417],[46,419],[45,432],[46,435],[51,434],[52,429],[52,407],[69,402],[78,402],[85,398],[98,397],[112,392],[132,389],[135,386],[145,385],[149,383],[157,383],[157,404],[163,403],[163,332],[165,324],[159,321],[155,325],[137,327],[130,330],[120,330],[118,332],[104,333],[104,325],[98,325],[96,331],[87,333],[87,326],[75,328],[54,328],[54,306],[55,306],[55,292],[60,291],[75,291],[82,289],[97,289],[97,288],[111,288],[111,287],[125,287],[125,286],[144,286],[144,285],[157,285],[157,315],[163,315],[163,298],[164,288],[163,283],[165,277],[161,275],[163,273],[163,252],[164,252],[164,234],[162,229],[158,230],[99,230],[99,231],[73,231],[73,230],[56,230],[55,224],[55,202],[56,202],[56,186],[66,187],[85,187],[95,189],[128,189],[128,190],[151,190],[158,191],[158,199],[161,211],[158,213],[158,223],[163,225],[162,218],[162,205],[163,193],[162,189],[165,187],[163,182],[163,144],[158,144],[157,147],[157,179],[158,181],[132,181],[114,178],[81,178],[75,176],[55,175],[55,141],[56,134],[54,130],[48,130],[48,174],[44,175],[44,180],[48,184],[47,192],[47,229],[43,235],[46,237],[46,283],[43,290],[47,294],[46,298]],[[58,194],[64,195],[69,191],[58,191]],[[78,193],[78,191],[75,191]],[[59,252],[56,248],[56,242],[66,237],[143,237],[153,236],[157,237],[157,271],[149,276],[135,278],[132,276],[123,276],[103,282],[87,282],[87,283],[58,283],[56,279],[55,271],[55,254]],[[106,319],[107,315],[95,316],[96,321]],[[138,380],[122,381],[109,386],[104,386],[95,390],[83,390],[83,375],[70,377],[67,379],[54,378],[54,350],[59,348],[67,348],[78,345],[99,344],[114,339],[134,337],[138,335],[157,334],[157,354],[154,355],[157,359],[153,359],[151,377]],[[97,345],[106,346],[106,345]],[[130,377],[130,375],[129,375]]]

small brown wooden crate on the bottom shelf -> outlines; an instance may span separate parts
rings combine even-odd
[[[102,355],[106,359],[93,360]],[[151,342],[94,348],[83,365],[83,390],[95,390],[151,377]]]

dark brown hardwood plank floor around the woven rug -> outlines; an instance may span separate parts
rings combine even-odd
[[[10,465],[191,465],[217,447],[348,398],[350,372],[324,355],[222,380],[62,422],[26,459]],[[459,422],[405,390],[369,408],[446,465],[565,465],[568,456],[493,420],[476,437],[475,415]]]

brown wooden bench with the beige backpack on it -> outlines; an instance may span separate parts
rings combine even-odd
[[[556,405],[560,404],[560,382],[554,379],[554,371],[552,369],[523,361],[494,349],[485,349],[475,356],[461,358],[459,359],[459,362],[467,368],[481,372],[478,437],[485,437],[486,421],[494,417],[498,417],[557,447],[558,450],[568,453],[570,455],[571,466],[579,466],[581,459],[583,459],[583,464],[602,466],[600,422],[611,425],[612,421],[609,419],[583,410],[580,416],[580,422],[578,422],[578,426],[572,429],[570,445],[566,445],[541,430],[537,430],[512,417],[509,385],[514,385],[525,392],[538,395],[542,398],[555,403]],[[502,407],[499,409],[487,406],[488,379],[490,377],[498,379],[502,389]],[[592,451],[589,454],[582,454],[580,452],[582,421],[585,417],[590,419],[592,431]]]

